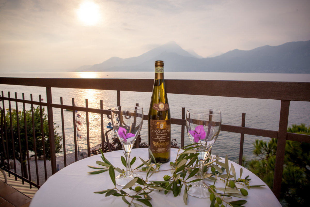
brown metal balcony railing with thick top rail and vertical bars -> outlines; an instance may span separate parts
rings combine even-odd
[[[271,131],[265,129],[248,128],[245,127],[245,114],[242,115],[241,126],[232,126],[223,124],[221,131],[240,133],[240,153],[239,164],[241,164],[242,151],[243,151],[243,138],[244,134],[255,135],[261,137],[277,138],[277,154],[276,164],[273,182],[273,193],[279,199],[281,180],[284,164],[284,154],[286,140],[308,142],[310,143],[310,136],[303,134],[287,133],[288,127],[288,115],[290,108],[290,101],[310,101],[310,83],[297,83],[297,82],[261,82],[261,81],[218,81],[218,80],[165,80],[166,90],[168,93],[175,94],[189,94],[189,95],[203,95],[203,96],[222,96],[222,97],[243,97],[243,98],[259,98],[259,99],[274,99],[281,101],[280,109],[280,122],[278,131]],[[49,123],[49,137],[51,147],[51,170],[52,174],[56,173],[56,158],[55,158],[55,140],[53,131],[53,108],[59,108],[68,110],[85,111],[87,113],[97,113],[101,115],[101,141],[104,146],[104,131],[103,131],[103,115],[110,114],[109,110],[103,109],[102,101],[100,101],[100,109],[78,107],[74,106],[74,99],[72,106],[63,105],[62,100],[60,104],[52,103],[51,88],[83,88],[83,89],[99,89],[99,90],[113,90],[117,92],[117,105],[120,105],[120,91],[133,91],[133,92],[152,92],[153,80],[152,79],[44,79],[44,78],[0,78],[0,84],[8,85],[22,85],[22,86],[38,86],[46,88],[47,102],[33,101],[4,97],[2,92],[2,100],[7,100],[9,103],[20,102],[32,105],[38,105],[40,107],[46,106],[48,113]],[[206,90],[206,88],[208,90]],[[40,99],[41,100],[41,99]],[[4,101],[2,103],[5,108]],[[17,106],[17,105],[16,105]],[[11,106],[10,106],[11,107]],[[11,110],[10,110],[11,111]],[[3,110],[5,113],[5,110]],[[5,116],[3,114],[3,116]],[[73,116],[74,117],[74,116]],[[182,108],[181,119],[172,118],[171,124],[181,125],[181,146],[184,146],[184,126],[185,126],[185,109]],[[147,120],[148,115],[144,115],[144,120]],[[63,112],[62,112],[63,120]],[[88,120],[87,120],[88,121]],[[74,123],[74,122],[73,122]],[[63,123],[62,123],[63,124]],[[2,140],[7,140],[10,135],[5,133],[6,123],[4,121],[1,129],[4,129],[2,133]],[[43,132],[42,132],[43,133]],[[64,133],[64,132],[63,132]],[[74,135],[75,140],[75,160],[77,161],[77,148],[76,148],[76,133]],[[13,137],[13,135],[12,135]],[[65,137],[63,137],[65,138]],[[89,153],[89,136],[87,136],[87,148]],[[7,146],[2,146],[5,148]],[[8,157],[8,156],[7,156]],[[64,146],[64,158],[65,158],[65,146]],[[28,157],[29,159],[29,157]],[[19,178],[23,178],[17,175],[15,172],[9,170]],[[38,174],[38,173],[37,173]],[[38,176],[37,176],[38,177]],[[40,187],[38,184],[24,179],[30,184]]]

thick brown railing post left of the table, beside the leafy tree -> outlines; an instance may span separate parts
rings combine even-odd
[[[52,167],[52,174],[55,174],[57,172],[57,167],[56,167],[53,108],[51,107],[52,103],[51,87],[46,87],[46,100],[47,100],[48,136],[50,140],[50,152],[51,152],[51,167]]]

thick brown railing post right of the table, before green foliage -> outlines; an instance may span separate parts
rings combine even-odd
[[[289,110],[290,110],[290,101],[281,100],[276,164],[274,168],[273,187],[272,187],[272,192],[277,197],[278,200],[280,200]]]

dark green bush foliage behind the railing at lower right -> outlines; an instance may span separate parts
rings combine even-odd
[[[310,135],[310,127],[293,124],[290,133]],[[286,141],[284,168],[281,185],[281,200],[289,206],[310,206],[310,143]],[[269,142],[255,140],[253,153],[259,159],[250,160],[248,169],[261,178],[272,189],[277,152],[277,139]]]

